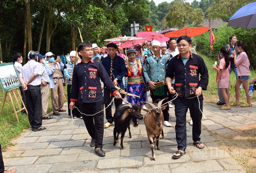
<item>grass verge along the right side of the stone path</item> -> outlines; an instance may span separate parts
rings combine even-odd
[[[203,97],[205,102],[216,103],[218,99],[216,75],[217,72],[213,70],[216,59],[206,57],[199,53],[203,57],[204,62],[209,72],[209,84],[206,91],[203,91]],[[255,71],[251,70],[251,78],[256,77]],[[236,84],[236,75],[231,72],[230,75],[230,103],[236,100],[236,93],[234,85]],[[240,103],[246,102],[245,91],[242,88],[240,90]],[[255,102],[255,94],[251,97],[252,102]],[[232,107],[231,107],[232,109]],[[215,138],[215,142],[220,145],[221,150],[225,150],[229,155],[235,159],[243,169],[249,172],[256,172],[256,129],[249,129],[239,132],[228,132],[225,134],[217,134],[211,132],[211,135]]]

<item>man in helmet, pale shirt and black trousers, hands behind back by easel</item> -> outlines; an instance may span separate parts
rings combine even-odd
[[[42,126],[42,98],[41,98],[41,65],[37,62],[37,53],[30,51],[28,53],[29,62],[22,67],[19,74],[19,80],[24,88],[28,119],[31,129],[34,132],[45,130]]]

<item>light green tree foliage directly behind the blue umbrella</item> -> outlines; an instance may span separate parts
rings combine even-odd
[[[228,21],[228,19],[237,12],[242,6],[255,2],[256,0],[216,0],[208,10],[206,10],[208,18],[211,19],[222,19]]]

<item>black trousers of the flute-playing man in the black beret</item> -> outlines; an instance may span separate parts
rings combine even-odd
[[[122,98],[124,98],[124,94],[121,94],[121,96],[122,96]],[[106,88],[104,88],[103,99],[104,99],[105,107],[107,107],[113,99],[113,96],[110,97],[110,92]],[[115,102],[115,107],[117,108],[119,105],[122,104],[123,100],[115,99],[114,102]],[[112,123],[114,121],[113,116],[112,116],[112,111],[111,111],[112,106],[113,106],[113,103],[111,103],[111,105],[105,109],[106,119],[108,120],[109,123]]]

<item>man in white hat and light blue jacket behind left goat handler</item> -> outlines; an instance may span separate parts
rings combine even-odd
[[[68,89],[68,105],[71,102],[70,101],[70,97],[71,97],[70,91],[71,91],[71,85],[72,85],[72,81],[73,81],[73,69],[74,69],[75,54],[76,54],[76,51],[70,52],[70,56],[69,56],[70,62],[68,64],[66,64],[67,68],[64,69],[64,75],[66,76],[67,89]],[[77,102],[75,102],[75,107],[77,107],[77,109],[72,110],[73,118],[80,117],[82,119],[83,117],[80,114],[80,112],[78,111],[79,104],[77,104]],[[69,106],[68,106],[68,113],[69,113],[69,116],[71,117],[71,112],[70,112]]]

